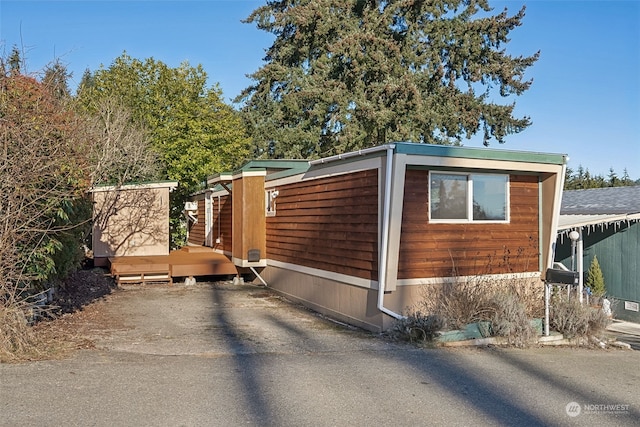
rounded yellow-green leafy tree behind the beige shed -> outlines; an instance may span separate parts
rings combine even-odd
[[[235,110],[222,101],[216,86],[207,87],[201,66],[171,68],[126,53],[108,68],[85,73],[78,99],[96,112],[105,99],[131,112],[131,123],[145,129],[158,153],[163,177],[179,182],[172,198],[172,236],[180,244],[186,196],[215,172],[231,170],[249,155],[249,139]]]

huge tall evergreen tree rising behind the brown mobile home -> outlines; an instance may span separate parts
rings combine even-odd
[[[504,45],[524,7],[486,0],[281,0],[247,19],[276,36],[245,102],[258,154],[319,157],[389,141],[484,143],[525,129],[507,97],[537,59]]]

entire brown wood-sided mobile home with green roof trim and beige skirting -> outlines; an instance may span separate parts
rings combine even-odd
[[[452,279],[519,277],[541,291],[565,167],[562,154],[404,142],[250,162],[193,196],[189,240],[290,299],[381,331]]]

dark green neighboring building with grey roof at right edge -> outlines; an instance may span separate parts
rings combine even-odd
[[[571,268],[575,230],[582,245],[582,276],[594,257],[619,319],[640,322],[640,186],[568,190],[562,196],[556,260]]]

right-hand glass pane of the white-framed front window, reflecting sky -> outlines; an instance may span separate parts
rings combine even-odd
[[[507,176],[471,175],[473,185],[473,219],[504,221],[507,219]]]

